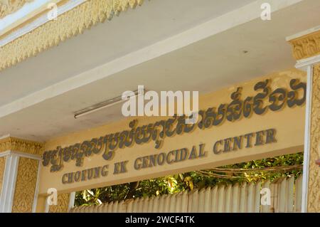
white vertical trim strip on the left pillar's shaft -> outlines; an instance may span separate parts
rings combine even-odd
[[[0,212],[10,213],[14,202],[14,191],[16,189],[16,176],[18,172],[19,157],[10,153],[6,158],[4,170],[3,189],[0,196]]]

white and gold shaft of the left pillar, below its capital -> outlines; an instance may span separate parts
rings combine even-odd
[[[0,212],[36,211],[41,157],[10,150],[1,154],[6,155],[0,157]]]

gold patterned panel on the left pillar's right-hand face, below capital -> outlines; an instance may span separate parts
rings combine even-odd
[[[19,158],[13,213],[31,212],[38,174],[38,160]]]

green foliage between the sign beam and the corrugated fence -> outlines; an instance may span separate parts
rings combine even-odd
[[[124,199],[159,196],[163,194],[174,194],[185,190],[202,189],[207,186],[217,184],[235,184],[243,181],[259,181],[270,179],[273,181],[281,176],[294,174],[297,178],[302,174],[302,169],[289,171],[258,171],[266,167],[288,167],[303,164],[303,153],[287,154],[268,159],[254,160],[240,164],[232,164],[224,169],[256,169],[257,171],[247,171],[241,173],[208,171],[225,177],[205,176],[198,171],[191,171],[183,174],[174,174],[157,179],[149,179],[127,184],[107,186],[100,189],[78,191],[75,195],[75,206],[87,206],[92,204],[102,204],[111,201],[121,201]]]

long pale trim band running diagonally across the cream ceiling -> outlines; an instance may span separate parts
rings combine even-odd
[[[269,0],[268,2],[272,6],[272,12],[274,12],[288,6],[292,6],[293,4],[297,4],[301,1],[302,0]],[[230,11],[223,16],[201,23],[198,26],[150,46],[141,48],[138,51],[134,51],[125,56],[111,60],[97,68],[92,68],[75,75],[73,78],[68,78],[56,83],[55,85],[43,88],[43,90],[38,90],[30,95],[15,100],[14,102],[3,105],[0,107],[0,117],[18,112],[19,110],[36,105],[37,103],[43,102],[49,98],[67,93],[70,90],[75,90],[102,78],[107,78],[114,73],[119,73],[127,68],[131,68],[148,60],[163,56],[166,53],[170,53],[192,43],[196,43],[197,41],[201,41],[204,38],[214,36],[218,33],[222,33],[223,31],[227,31],[230,28],[234,28],[235,26],[240,26],[248,21],[258,19],[260,18],[260,6],[262,3],[265,3],[265,0],[254,1],[251,4],[247,4],[246,6],[236,9],[235,11]]]

